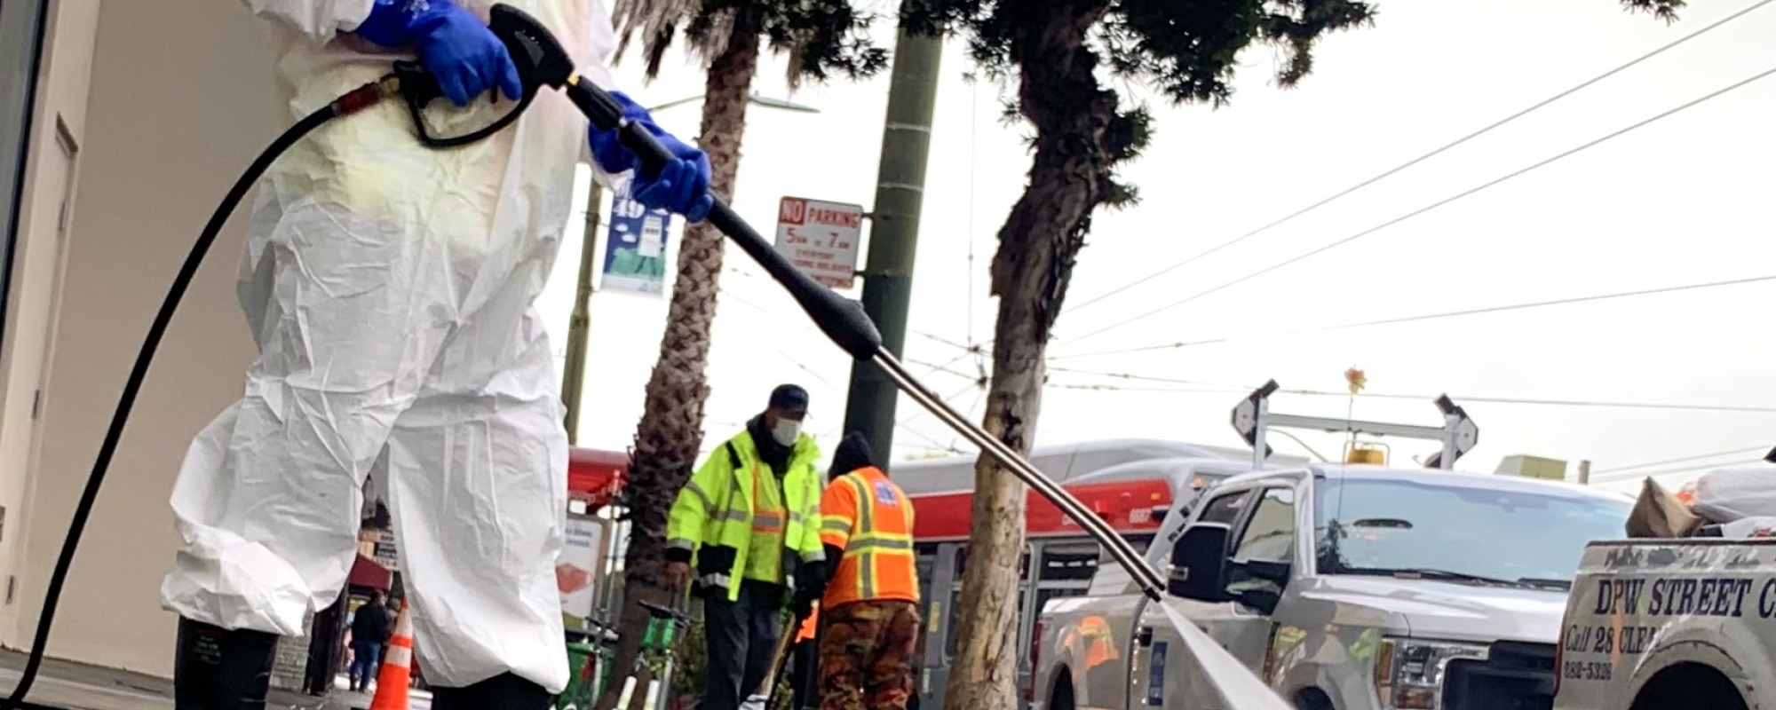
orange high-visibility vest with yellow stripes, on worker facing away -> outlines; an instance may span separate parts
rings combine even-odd
[[[913,502],[879,469],[833,479],[821,497],[821,545],[845,550],[821,604],[918,602]]]

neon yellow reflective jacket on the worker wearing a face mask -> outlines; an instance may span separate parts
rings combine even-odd
[[[783,548],[792,563],[826,559],[821,550],[821,458],[813,437],[803,435],[790,453],[783,474]],[[748,564],[753,536],[753,483],[776,486],[778,477],[758,458],[753,437],[744,430],[718,447],[691,481],[678,490],[666,515],[666,547],[693,552],[698,582],[726,588],[728,600],[741,598],[741,577]],[[794,570],[783,570],[783,584],[794,586]]]

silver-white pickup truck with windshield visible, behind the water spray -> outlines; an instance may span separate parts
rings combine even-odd
[[[1302,710],[1549,710],[1574,570],[1630,504],[1423,469],[1229,477],[1149,547],[1165,602],[1128,588],[1046,605],[1032,706],[1225,710],[1181,657],[1176,612]]]

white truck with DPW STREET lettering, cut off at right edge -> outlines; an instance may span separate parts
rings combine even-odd
[[[1591,543],[1556,710],[1776,708],[1776,538]]]

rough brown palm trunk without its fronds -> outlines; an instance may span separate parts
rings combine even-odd
[[[733,195],[741,169],[741,135],[746,131],[746,105],[753,75],[758,71],[758,30],[735,21],[728,46],[710,60],[703,85],[703,126],[698,142],[709,154],[710,190],[723,199]],[[703,401],[709,382],[709,330],[716,318],[716,286],[721,277],[723,234],[707,222],[687,225],[678,248],[678,279],[673,282],[671,307],[661,355],[648,378],[646,406],[636,426],[629,483],[629,550],[623,557],[623,612],[613,666],[613,692],[599,699],[599,708],[616,705],[616,689],[629,674],[646,630],[648,614],[636,602],[673,605],[684,589],[671,589],[662,575],[666,552],[666,511],[678,488],[691,477],[698,447],[703,444]],[[643,678],[645,682],[645,678]],[[668,689],[670,690],[670,689]],[[636,694],[630,708],[639,708]]]

